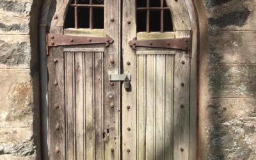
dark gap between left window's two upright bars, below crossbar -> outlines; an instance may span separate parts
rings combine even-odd
[[[89,8],[78,8],[78,28],[90,28],[90,9]]]

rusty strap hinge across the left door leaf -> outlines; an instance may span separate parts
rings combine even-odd
[[[47,34],[47,55],[49,47],[58,47],[66,45],[86,45],[86,44],[113,44],[114,40],[110,37],[90,37],[90,36],[69,36],[58,35],[54,33]]]

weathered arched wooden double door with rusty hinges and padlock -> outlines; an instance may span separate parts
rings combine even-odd
[[[57,3],[47,34],[50,159],[189,159],[191,31],[172,26],[170,1],[156,2]]]

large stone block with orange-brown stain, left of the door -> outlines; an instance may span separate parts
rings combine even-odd
[[[31,127],[33,88],[29,70],[0,70],[0,128]]]

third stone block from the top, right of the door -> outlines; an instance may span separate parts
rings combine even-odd
[[[255,97],[256,65],[210,65],[209,92],[216,97]]]

